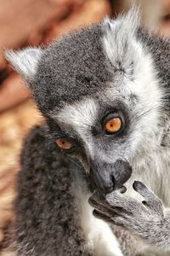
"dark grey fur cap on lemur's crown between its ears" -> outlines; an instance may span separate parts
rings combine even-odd
[[[111,73],[102,49],[101,26],[82,29],[45,49],[31,90],[42,113],[105,90]]]

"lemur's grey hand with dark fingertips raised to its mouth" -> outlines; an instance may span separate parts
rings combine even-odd
[[[95,208],[95,217],[120,225],[148,239],[150,230],[160,229],[164,222],[163,206],[143,183],[135,181],[133,189],[144,197],[144,201],[137,201],[116,190],[105,197],[94,192],[89,198],[89,203]]]

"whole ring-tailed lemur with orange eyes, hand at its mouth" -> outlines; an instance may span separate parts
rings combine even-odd
[[[21,154],[18,255],[170,255],[170,44],[135,17],[6,53],[46,121]]]

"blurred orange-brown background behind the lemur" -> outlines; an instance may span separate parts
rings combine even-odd
[[[136,3],[143,25],[169,37],[170,0]],[[3,50],[48,44],[105,15],[126,12],[132,5],[133,0],[0,0],[0,255],[14,255],[8,237],[22,138],[42,119],[26,85],[5,61]]]

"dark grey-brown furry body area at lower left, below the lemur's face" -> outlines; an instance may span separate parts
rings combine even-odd
[[[91,256],[78,226],[71,163],[48,143],[41,127],[31,131],[24,148],[15,202],[18,255]]]

